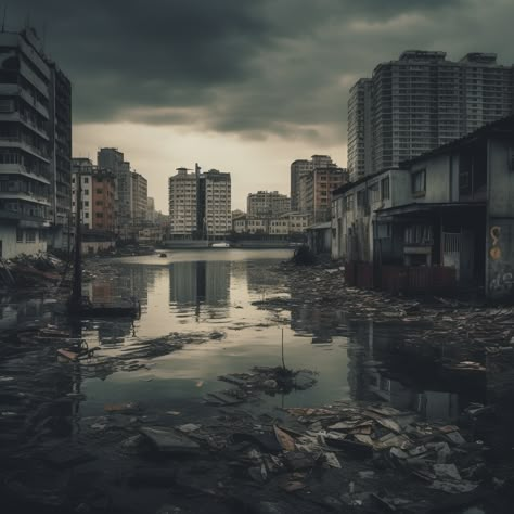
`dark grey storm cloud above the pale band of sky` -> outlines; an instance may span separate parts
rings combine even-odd
[[[481,3],[16,0],[8,27],[27,13],[39,33],[46,27],[47,50],[74,83],[76,123],[194,125],[305,139],[332,127],[339,138],[349,87],[378,62],[407,48],[506,49],[507,0],[487,2],[485,12],[498,11],[498,37],[483,34],[474,46],[486,23]]]

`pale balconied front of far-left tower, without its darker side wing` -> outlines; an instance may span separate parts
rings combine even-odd
[[[11,258],[47,250],[54,205],[53,86],[30,29],[2,31],[0,47],[0,257]]]

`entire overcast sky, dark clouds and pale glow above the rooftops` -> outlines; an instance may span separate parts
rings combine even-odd
[[[349,87],[407,49],[514,62],[512,0],[9,0],[72,79],[74,156],[116,146],[167,213],[179,166],[288,193],[290,163],[346,165]]]

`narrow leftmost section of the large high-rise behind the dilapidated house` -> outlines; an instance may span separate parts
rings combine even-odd
[[[371,79],[361,78],[350,89],[348,99],[348,174],[351,181],[371,172]]]

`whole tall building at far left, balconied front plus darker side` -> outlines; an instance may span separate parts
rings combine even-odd
[[[55,241],[65,244],[72,202],[69,120],[69,81],[44,55],[36,33],[2,31],[0,257],[44,252]]]

